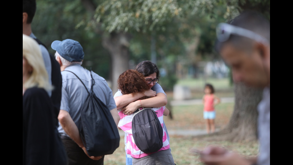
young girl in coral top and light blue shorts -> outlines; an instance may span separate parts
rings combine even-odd
[[[209,134],[210,132],[215,132],[215,105],[220,103],[220,99],[214,95],[215,91],[211,84],[205,84],[204,92],[205,95],[202,98],[204,104],[204,119],[206,120],[206,130]]]

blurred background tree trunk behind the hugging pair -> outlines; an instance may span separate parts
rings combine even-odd
[[[129,40],[126,33],[111,33],[103,38],[103,46],[110,52],[112,59],[112,85],[113,94],[117,92],[117,79],[125,70],[129,69]]]

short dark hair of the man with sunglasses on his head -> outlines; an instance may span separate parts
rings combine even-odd
[[[254,33],[266,38],[270,43],[270,22],[257,11],[244,11],[239,16],[230,20],[228,23],[237,27],[253,31]],[[228,42],[234,44],[239,48],[247,49],[247,47],[251,44],[251,39],[231,34],[229,39],[225,42],[220,42],[219,40],[216,40],[216,51],[219,52],[225,45],[225,43]]]

